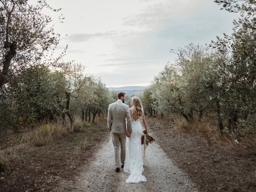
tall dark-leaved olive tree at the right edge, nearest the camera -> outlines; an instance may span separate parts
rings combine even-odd
[[[234,20],[231,35],[224,34],[224,38],[218,37],[212,41],[213,48],[229,57],[218,65],[216,75],[221,74],[223,78],[218,84],[219,94],[213,98],[218,99],[223,119],[228,121],[225,126],[227,131],[240,132],[239,128],[253,131],[256,122],[256,1],[215,2],[229,12],[240,13],[240,18]],[[221,123],[220,126],[224,127]]]

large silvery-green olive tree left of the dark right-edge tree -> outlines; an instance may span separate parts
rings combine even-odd
[[[153,106],[162,114],[180,113],[188,122],[201,120],[210,110],[209,90],[202,90],[213,68],[213,53],[207,46],[189,44],[172,51],[177,54],[174,64],[167,64],[154,78]],[[146,93],[146,92],[145,92]]]

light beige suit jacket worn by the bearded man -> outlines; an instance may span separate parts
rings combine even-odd
[[[121,100],[108,106],[108,128],[112,133],[126,133],[126,119],[127,129],[132,133],[129,106]]]

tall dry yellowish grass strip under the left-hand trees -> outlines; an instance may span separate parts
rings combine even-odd
[[[18,162],[22,156],[28,155],[28,152],[40,150],[38,147],[50,146],[62,138],[76,145],[80,152],[84,152],[108,130],[106,122],[100,118],[96,118],[96,124],[75,118],[73,133],[68,132],[61,122],[39,124],[35,129],[16,136],[8,146],[0,150],[0,162]]]

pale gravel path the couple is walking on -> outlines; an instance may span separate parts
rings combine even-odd
[[[122,169],[120,173],[116,173],[114,169],[114,150],[112,140],[109,138],[99,146],[87,170],[82,171],[80,176],[75,178],[71,189],[86,192],[197,191],[186,174],[173,165],[172,160],[166,156],[157,142],[148,146],[146,151],[143,174],[148,182],[126,184],[125,180],[129,174],[124,173]],[[66,185],[67,183],[63,184],[61,188],[65,190]]]

